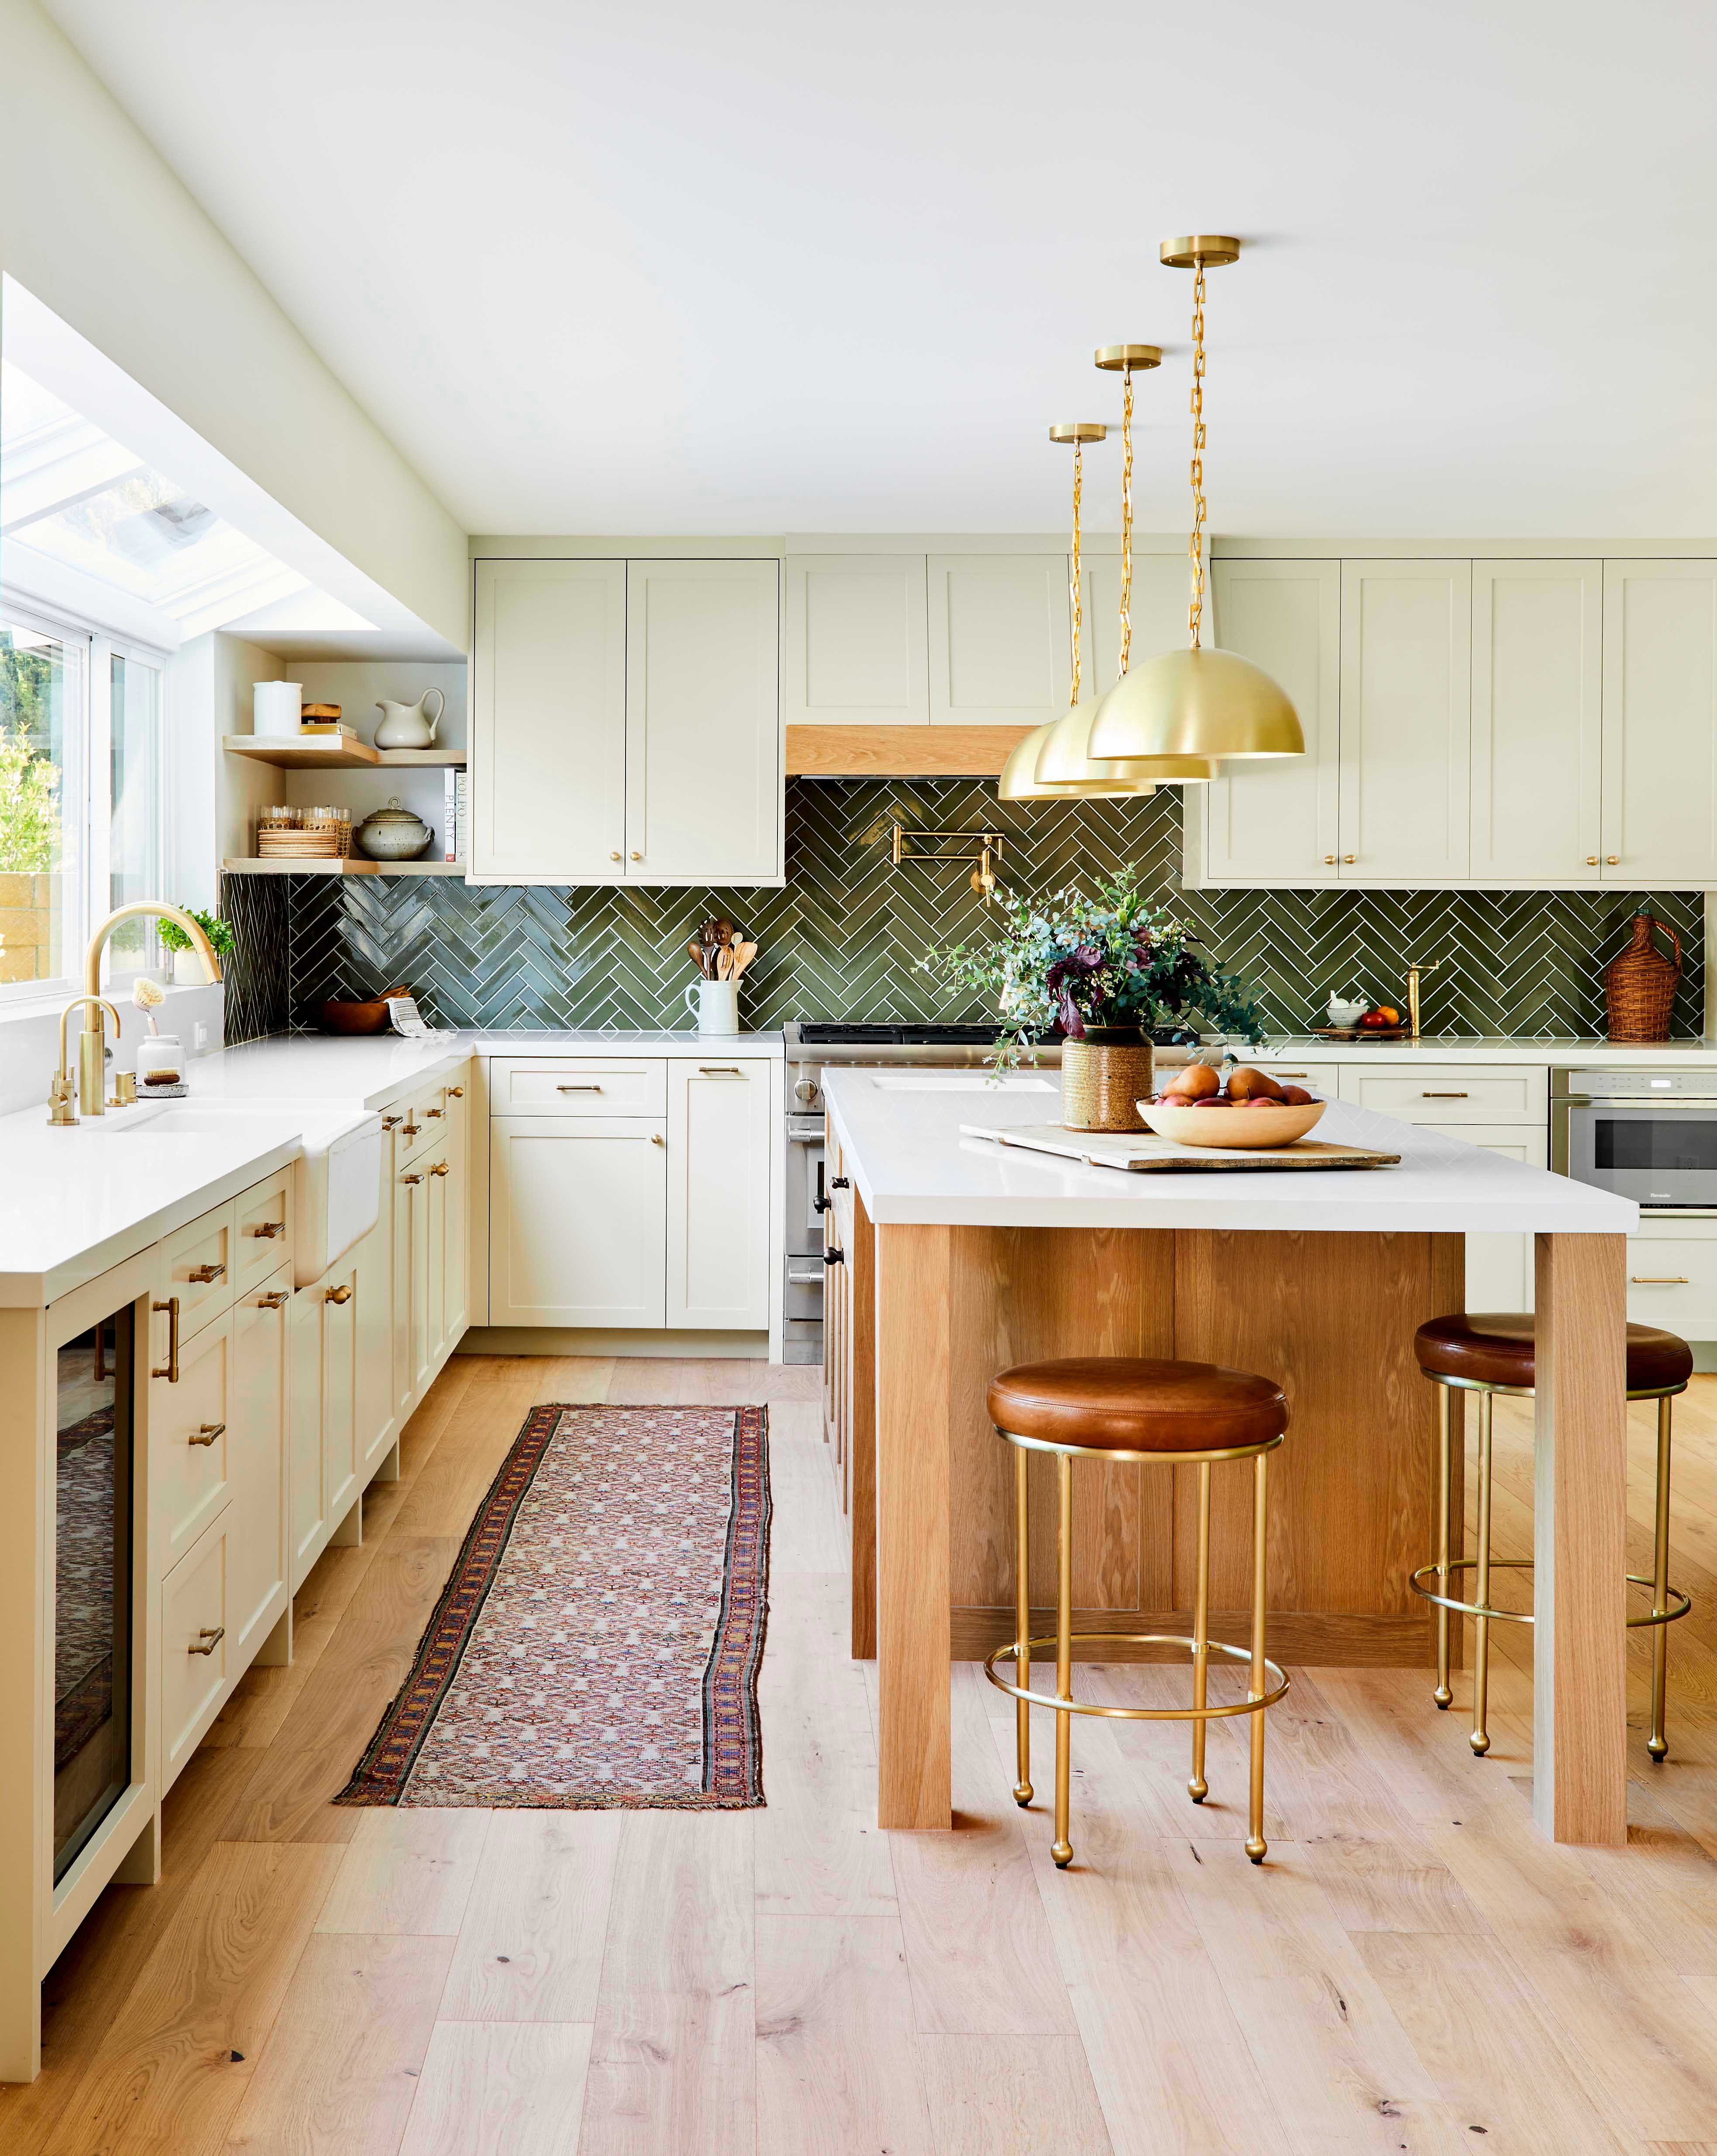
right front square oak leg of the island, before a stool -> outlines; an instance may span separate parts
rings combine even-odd
[[[1626,1240],[1538,1238],[1531,1811],[1626,1841]]]

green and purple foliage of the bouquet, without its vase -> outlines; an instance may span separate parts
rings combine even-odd
[[[947,944],[919,959],[949,987],[994,998],[1005,1026],[999,1072],[1057,1026],[1072,1041],[1109,1028],[1137,1037],[1197,1011],[1223,1033],[1264,1039],[1251,994],[1193,949],[1189,923],[1148,903],[1137,869],[1098,877],[1089,890],[1066,884],[1046,895],[1009,893],[1001,916],[990,942]]]

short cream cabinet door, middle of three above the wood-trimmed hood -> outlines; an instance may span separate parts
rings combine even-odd
[[[1042,727],[1068,709],[1068,556],[932,554],[930,724]]]

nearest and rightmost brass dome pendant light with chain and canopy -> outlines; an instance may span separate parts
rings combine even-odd
[[[1087,755],[1102,768],[1139,757],[1303,757],[1305,735],[1286,690],[1238,651],[1204,651],[1204,272],[1238,261],[1240,241],[1195,233],[1165,239],[1163,261],[1193,272],[1193,597],[1189,649],[1124,673],[1098,703]]]

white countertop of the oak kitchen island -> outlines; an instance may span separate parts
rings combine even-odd
[[[1639,1222],[1626,1199],[1346,1102],[1316,1136],[1400,1153],[1398,1169],[1126,1175],[960,1134],[1059,1121],[1048,1074],[988,1087],[979,1072],[835,1069],[824,1097],[878,1225],[1626,1235]]]

